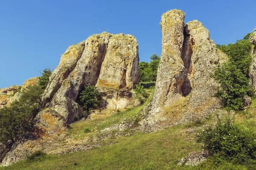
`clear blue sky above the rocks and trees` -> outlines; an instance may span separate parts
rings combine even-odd
[[[217,44],[234,43],[256,28],[255,0],[2,0],[0,88],[22,85],[54,69],[61,54],[93,34],[132,34],[140,61],[161,54],[161,15],[177,8],[199,20]]]

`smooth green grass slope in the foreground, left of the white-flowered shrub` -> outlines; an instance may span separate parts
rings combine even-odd
[[[33,162],[21,161],[1,170],[171,170],[177,168],[178,159],[200,150],[199,144],[189,140],[193,134],[183,133],[183,128],[176,126],[152,134],[109,139],[106,142],[113,142],[110,146],[61,156],[37,157]]]

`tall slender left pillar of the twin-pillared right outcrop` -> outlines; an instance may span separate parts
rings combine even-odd
[[[185,14],[180,10],[168,11],[162,15],[162,54],[157,71],[154,97],[143,110],[148,112],[147,123],[164,121],[164,109],[182,97],[181,86],[185,81],[186,69],[181,59]],[[146,111],[148,110],[148,111]]]

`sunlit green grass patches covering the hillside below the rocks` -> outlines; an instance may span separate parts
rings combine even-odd
[[[144,105],[151,98],[152,95]],[[105,119],[76,122],[70,125],[67,135],[73,136],[74,139],[93,136],[105,127],[122,122],[124,118],[134,117],[144,105],[130,111],[118,112]],[[250,109],[236,113],[236,122],[256,132],[255,111],[256,100],[253,99]],[[217,164],[212,159],[198,167],[177,166],[179,159],[186,157],[190,152],[201,150],[201,144],[195,142],[195,131],[215,121],[216,117],[211,116],[202,122],[178,125],[151,134],[137,131],[137,134],[131,136],[113,135],[102,141],[102,147],[93,150],[61,156],[40,156],[32,161],[25,160],[9,167],[1,167],[0,170],[253,170],[253,165],[238,166],[225,161]],[[84,133],[84,128],[90,129],[91,133]],[[112,131],[112,134],[115,134],[115,131]]]

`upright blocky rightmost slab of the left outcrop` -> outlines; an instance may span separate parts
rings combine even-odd
[[[132,35],[113,35],[102,62],[96,86],[133,89],[139,81],[137,40]]]

